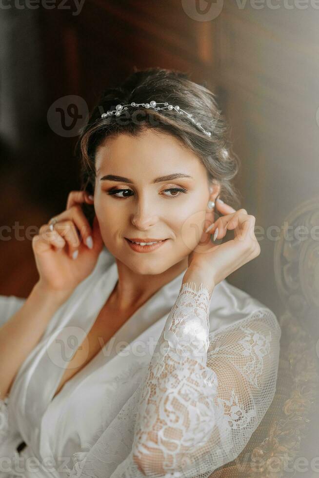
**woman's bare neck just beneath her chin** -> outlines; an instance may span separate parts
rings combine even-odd
[[[188,258],[162,272],[161,274],[137,274],[116,259],[119,280],[112,292],[111,302],[117,309],[125,311],[139,308],[163,285],[179,276],[188,265]]]

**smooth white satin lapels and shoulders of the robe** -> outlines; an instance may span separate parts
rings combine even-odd
[[[184,272],[148,299],[54,397],[67,359],[77,348],[74,344],[80,344],[89,332],[118,281],[114,257],[102,250],[92,274],[52,317],[15,378],[8,398],[9,433],[0,441],[0,461],[4,463],[0,478],[16,477],[5,471],[9,458],[14,457],[20,458],[25,478],[66,477],[74,465],[73,455],[81,456],[94,445],[140,385]],[[24,300],[0,296],[0,324],[19,310]],[[224,279],[213,291],[210,332],[259,307],[265,305]],[[67,339],[70,335],[72,343]],[[131,433],[133,418],[125,426]],[[26,446],[18,454],[22,441]],[[130,450],[119,446],[116,453],[114,461],[120,464]]]

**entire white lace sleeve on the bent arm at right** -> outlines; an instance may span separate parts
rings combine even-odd
[[[280,327],[267,308],[209,334],[210,294],[182,284],[142,387],[132,477],[208,477],[271,404]]]

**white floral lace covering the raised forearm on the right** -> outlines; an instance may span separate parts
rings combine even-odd
[[[204,439],[214,421],[210,403],[216,395],[217,378],[204,366],[209,346],[209,305],[205,287],[196,292],[183,284],[148,369],[134,455],[148,454],[156,430],[164,468],[175,469],[180,454]]]

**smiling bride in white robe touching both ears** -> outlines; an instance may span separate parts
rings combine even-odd
[[[260,252],[255,218],[229,205],[226,132],[179,72],[103,93],[77,145],[82,189],[33,238],[39,281],[1,297],[4,477],[204,478],[244,448],[280,328],[225,280]]]

